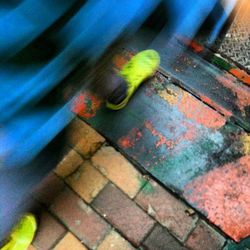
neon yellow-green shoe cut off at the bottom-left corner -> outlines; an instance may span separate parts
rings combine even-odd
[[[25,214],[10,234],[10,240],[0,250],[27,250],[37,229],[32,214]]]

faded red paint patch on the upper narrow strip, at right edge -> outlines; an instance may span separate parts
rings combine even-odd
[[[233,76],[228,73],[226,73],[226,77],[217,76],[216,79],[235,94],[237,97],[236,104],[241,111],[244,111],[244,108],[250,105],[250,91],[247,86],[236,84]]]

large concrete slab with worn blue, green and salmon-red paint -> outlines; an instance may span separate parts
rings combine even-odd
[[[250,236],[250,139],[227,116],[159,72],[123,110],[89,92],[73,110],[232,239]]]

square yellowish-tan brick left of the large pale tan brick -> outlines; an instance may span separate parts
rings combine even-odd
[[[108,180],[86,161],[67,178],[67,182],[87,203],[90,203]]]

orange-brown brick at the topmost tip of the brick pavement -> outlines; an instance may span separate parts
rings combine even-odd
[[[68,143],[83,157],[89,158],[105,139],[79,118],[75,118],[67,128]]]

